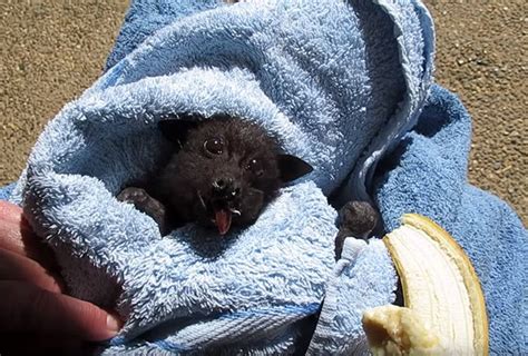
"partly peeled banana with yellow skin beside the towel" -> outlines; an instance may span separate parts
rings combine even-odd
[[[468,256],[437,224],[409,214],[383,241],[394,261],[405,307],[363,314],[374,355],[488,355],[488,318]]]

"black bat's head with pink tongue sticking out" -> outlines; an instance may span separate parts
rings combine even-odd
[[[255,123],[233,118],[178,121],[162,125],[180,149],[163,170],[158,189],[178,218],[214,225],[221,235],[233,225],[254,222],[284,182],[312,170],[296,157],[280,155],[276,142]]]

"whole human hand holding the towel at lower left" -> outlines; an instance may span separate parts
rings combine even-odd
[[[0,354],[78,348],[115,336],[120,322],[63,293],[50,250],[22,210],[0,200]]]

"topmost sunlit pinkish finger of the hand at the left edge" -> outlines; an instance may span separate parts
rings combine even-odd
[[[49,247],[33,234],[18,206],[0,200],[0,248],[30,257],[55,268]]]

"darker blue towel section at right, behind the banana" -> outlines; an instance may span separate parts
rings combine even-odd
[[[417,127],[385,159],[377,201],[388,230],[419,212],[462,246],[488,307],[490,352],[528,353],[528,234],[514,210],[467,182],[470,117],[459,99],[432,88]]]

